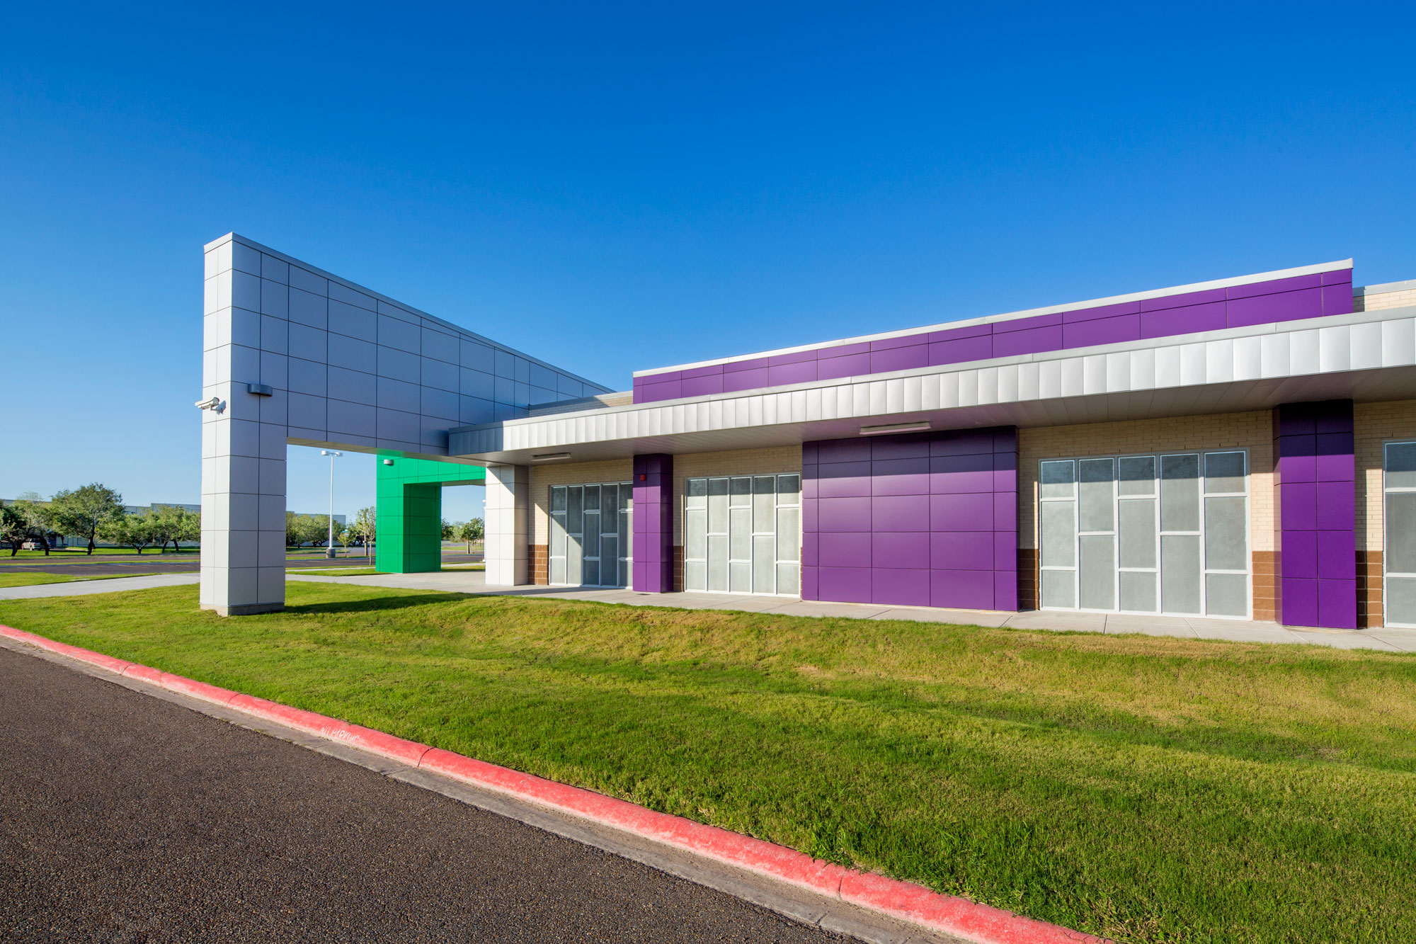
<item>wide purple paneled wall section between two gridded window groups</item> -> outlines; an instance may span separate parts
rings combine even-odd
[[[1018,608],[1014,427],[807,442],[801,597]]]

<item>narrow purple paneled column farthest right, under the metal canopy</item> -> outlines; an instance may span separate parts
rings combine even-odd
[[[1276,609],[1287,626],[1357,628],[1352,401],[1273,411]]]

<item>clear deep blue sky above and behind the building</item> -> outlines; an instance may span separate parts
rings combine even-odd
[[[616,388],[1349,255],[1416,278],[1409,4],[37,10],[0,33],[7,498],[198,500],[231,230]],[[344,459],[336,510],[371,502]]]

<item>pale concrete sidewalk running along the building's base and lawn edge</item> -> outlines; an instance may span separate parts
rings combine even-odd
[[[554,600],[590,600],[630,607],[677,607],[683,609],[742,609],[783,617],[840,617],[847,619],[915,619],[953,622],[1012,629],[1048,629],[1062,632],[1104,632],[1110,635],[1140,632],[1151,636],[1184,639],[1226,639],[1231,642],[1306,642],[1338,649],[1382,649],[1416,652],[1416,629],[1294,629],[1276,622],[1245,619],[1204,619],[1199,617],[1133,617],[1103,612],[997,612],[988,609],[935,609],[927,607],[885,607],[797,600],[794,597],[753,597],[749,594],[639,594],[633,590],[583,590],[576,587],[514,587],[487,590],[483,571],[442,571],[435,574],[372,574],[368,577],[317,577],[289,574],[287,581],[354,584],[402,590],[440,590],[455,594],[497,597],[548,597]],[[35,597],[75,597],[109,594],[149,587],[195,584],[197,574],[154,574],[116,580],[40,584],[0,590],[0,600]]]

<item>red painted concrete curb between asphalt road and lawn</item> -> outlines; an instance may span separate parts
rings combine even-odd
[[[967,899],[939,894],[913,882],[902,882],[874,872],[845,869],[772,842],[708,826],[683,816],[656,812],[615,797],[559,784],[534,774],[523,774],[326,714],[241,695],[170,672],[159,672],[136,662],[55,642],[23,629],[0,625],[0,636],[27,642],[40,649],[58,652],[120,675],[144,679],[171,692],[227,704],[268,721],[278,721],[302,731],[346,741],[409,767],[426,768],[542,807],[571,812],[685,852],[749,869],[871,911],[889,914],[978,944],[1109,944],[1092,934],[1082,934]]]

